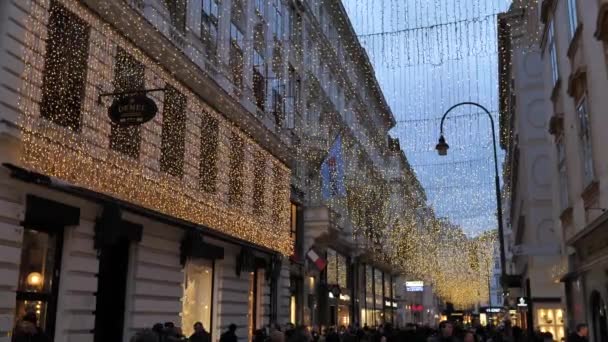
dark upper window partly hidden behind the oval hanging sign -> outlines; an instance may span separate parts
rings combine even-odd
[[[114,67],[114,91],[127,92],[144,89],[144,65],[118,48]],[[110,148],[131,158],[139,157],[140,126],[119,126],[111,123]]]

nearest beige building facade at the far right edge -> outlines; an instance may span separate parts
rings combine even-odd
[[[590,339],[608,339],[606,318],[605,1],[538,1],[534,22],[550,142],[551,218],[562,256],[546,280],[561,280],[570,329],[590,325]],[[532,29],[532,28],[531,28]],[[543,114],[543,117],[545,115]],[[540,120],[539,120],[540,124]],[[531,123],[530,126],[533,126]],[[543,139],[546,141],[546,139]],[[553,247],[553,246],[551,246]],[[532,290],[534,293],[534,290]],[[560,319],[561,320],[561,319]]]

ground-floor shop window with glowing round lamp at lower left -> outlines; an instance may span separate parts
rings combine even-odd
[[[62,235],[29,228],[23,233],[15,322],[35,314],[49,336],[55,329]]]

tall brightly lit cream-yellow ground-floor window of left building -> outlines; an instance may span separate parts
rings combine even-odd
[[[194,323],[201,322],[211,332],[213,300],[213,261],[189,259],[184,270],[182,298],[182,329],[186,336],[194,332]]]

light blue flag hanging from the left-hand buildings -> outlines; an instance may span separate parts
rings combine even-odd
[[[323,200],[346,196],[344,186],[344,159],[342,158],[342,138],[338,136],[321,164]]]

